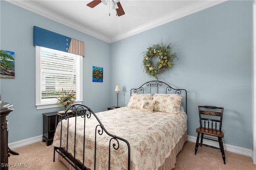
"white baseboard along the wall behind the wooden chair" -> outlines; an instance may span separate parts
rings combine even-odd
[[[196,143],[196,137],[188,135],[188,141]],[[216,141],[211,141],[208,139],[204,139],[204,142],[206,145],[211,145],[214,147],[219,147],[219,143]],[[246,148],[236,147],[233,145],[223,144],[224,150],[227,150],[229,152],[234,152],[238,154],[242,154],[245,156],[250,156],[253,159],[253,151]]]

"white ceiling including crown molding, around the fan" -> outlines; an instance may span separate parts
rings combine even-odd
[[[120,0],[125,14],[116,16],[112,2],[94,8],[92,0],[8,0],[51,20],[112,43],[204,10],[226,0]],[[110,14],[110,16],[109,16]]]

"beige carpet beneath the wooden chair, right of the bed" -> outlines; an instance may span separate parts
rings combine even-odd
[[[256,170],[252,158],[225,150],[226,164],[218,149],[198,147],[195,155],[195,143],[186,142],[177,156],[173,170]]]

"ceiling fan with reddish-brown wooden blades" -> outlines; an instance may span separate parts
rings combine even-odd
[[[118,16],[122,16],[125,14],[124,9],[122,8],[121,3],[119,2],[120,0],[93,0],[92,2],[88,3],[87,6],[94,8],[95,6],[100,4],[100,2],[102,2],[104,5],[107,5],[108,1],[113,2],[113,9],[116,9],[116,14]]]

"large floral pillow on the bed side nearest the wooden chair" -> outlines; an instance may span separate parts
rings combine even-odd
[[[182,96],[177,95],[158,95],[153,96],[155,100],[154,111],[161,111],[166,113],[180,113],[180,104]]]

